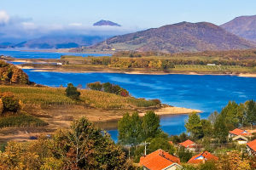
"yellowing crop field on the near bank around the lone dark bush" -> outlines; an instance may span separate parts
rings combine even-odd
[[[125,109],[156,105],[150,100],[122,97],[87,89],[79,89],[80,100],[68,98],[65,94],[65,88],[0,86],[0,92],[12,92],[25,105],[87,105],[102,109]]]

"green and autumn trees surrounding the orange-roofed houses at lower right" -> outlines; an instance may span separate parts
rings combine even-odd
[[[246,145],[236,144],[228,138],[229,131],[236,127],[251,128],[256,123],[255,117],[256,102],[253,100],[240,105],[229,102],[220,113],[215,111],[208,119],[201,119],[196,113],[190,114],[185,123],[189,135],[182,133],[179,136],[168,136],[161,130],[160,118],[153,111],[148,111],[143,117],[135,112],[132,115],[126,114],[119,121],[119,144],[130,147],[131,157],[135,162],[144,155],[146,141],[147,154],[159,149],[165,150],[179,157],[184,169],[255,169],[256,159],[247,155]],[[195,141],[194,152],[177,147],[177,144],[187,139]],[[251,137],[253,139],[256,139],[256,133]],[[218,161],[207,161],[198,166],[187,163],[192,156],[204,150],[218,156]]]

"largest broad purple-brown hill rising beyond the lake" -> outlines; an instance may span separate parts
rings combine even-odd
[[[168,53],[255,48],[256,43],[237,37],[207,22],[181,22],[108,38],[98,49],[161,51]]]

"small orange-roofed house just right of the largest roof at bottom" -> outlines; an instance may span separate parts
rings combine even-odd
[[[209,161],[209,160],[218,161],[218,157],[213,156],[208,151],[204,151],[204,152],[201,152],[201,154],[191,157],[191,159],[189,159],[188,163],[198,164],[198,163],[204,163],[205,161]]]

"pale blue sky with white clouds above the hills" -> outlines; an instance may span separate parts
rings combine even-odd
[[[92,30],[102,19],[119,23],[125,31],[181,21],[220,25],[253,14],[256,0],[0,0],[0,34]]]

